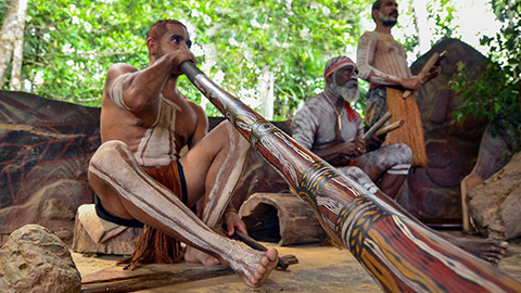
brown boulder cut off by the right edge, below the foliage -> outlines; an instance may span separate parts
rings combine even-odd
[[[500,240],[521,235],[521,153],[471,188],[468,196],[470,216],[480,232]]]

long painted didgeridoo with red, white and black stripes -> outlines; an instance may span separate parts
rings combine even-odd
[[[220,89],[193,63],[193,85],[310,204],[328,234],[387,292],[520,292],[521,282],[414,222]]]

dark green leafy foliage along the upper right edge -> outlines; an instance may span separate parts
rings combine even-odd
[[[463,100],[454,114],[457,122],[472,116],[495,124],[496,129],[513,130],[521,142],[521,4],[516,1],[492,1],[504,25],[495,38],[483,38],[491,50],[483,63],[485,72],[472,84],[465,65],[452,80],[452,88]]]

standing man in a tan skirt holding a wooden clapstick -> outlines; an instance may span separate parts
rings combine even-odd
[[[377,0],[372,4],[373,31],[366,31],[358,42],[357,65],[360,78],[371,84],[367,93],[365,122],[372,126],[387,111],[392,122],[404,119],[405,125],[389,135],[389,143],[404,142],[411,150],[414,166],[425,167],[427,155],[423,128],[418,105],[412,97],[403,99],[403,91],[415,92],[427,81],[410,73],[405,49],[391,35],[398,18],[395,0]],[[439,66],[428,74],[428,79],[437,76]]]

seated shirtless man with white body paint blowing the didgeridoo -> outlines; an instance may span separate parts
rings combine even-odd
[[[204,111],[178,90],[179,65],[195,62],[190,44],[183,24],[158,21],[147,35],[147,68],[115,64],[109,69],[102,145],[89,165],[97,211],[116,224],[145,225],[132,266],[181,256],[204,265],[220,262],[247,285],[258,286],[275,268],[277,251],[254,251],[213,230],[224,216],[228,235],[245,231],[230,198],[247,142],[228,122],[206,133]],[[185,146],[188,152],[180,156]],[[200,219],[190,208],[201,199]],[[189,245],[183,254],[179,241]]]

